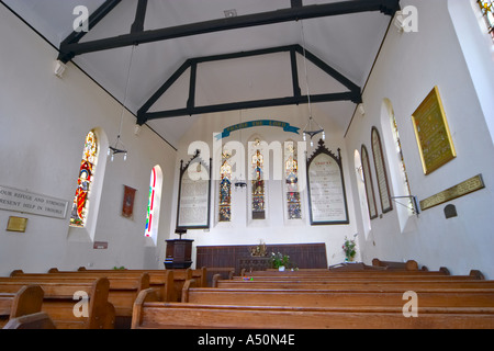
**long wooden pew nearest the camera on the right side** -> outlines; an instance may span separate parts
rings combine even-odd
[[[396,307],[218,306],[156,302],[143,291],[134,305],[133,329],[398,329],[494,328],[492,307],[424,307],[418,318],[406,318]]]

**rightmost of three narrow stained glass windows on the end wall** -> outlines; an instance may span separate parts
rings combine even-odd
[[[299,158],[293,141],[284,144],[284,177],[287,189],[288,218],[302,218],[302,206],[299,191]]]

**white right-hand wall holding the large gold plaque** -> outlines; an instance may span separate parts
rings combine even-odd
[[[479,102],[475,75],[470,75],[471,67],[465,63],[465,56],[471,53],[462,50],[467,47],[460,45],[456,35],[447,11],[448,2],[409,0],[403,1],[402,7],[407,4],[418,9],[418,32],[398,33],[394,26],[390,29],[364,89],[366,115],[356,114],[347,136],[347,158],[356,149],[360,150],[362,143],[371,152],[372,126],[379,128],[381,136],[391,135],[390,129],[386,131],[389,126],[382,123],[382,104],[389,99],[394,107],[413,195],[424,200],[479,173],[486,189],[449,202],[457,206],[458,217],[445,218],[444,208],[449,204],[446,203],[420,213],[418,218],[412,217],[405,230],[397,218],[396,206],[400,205],[395,204],[393,212],[371,222],[369,239],[360,242],[363,258],[367,262],[374,257],[397,261],[415,259],[430,270],[446,267],[453,274],[468,274],[479,269],[493,276],[494,150],[486,123],[492,116],[484,114]],[[473,33],[480,35],[480,32]],[[462,35],[467,39],[469,33],[462,32]],[[442,98],[458,157],[425,176],[411,116],[435,86]],[[384,149],[388,169],[395,173],[392,165],[395,152],[389,139]],[[372,155],[370,158],[373,170]],[[379,197],[375,172],[372,176]],[[355,179],[352,184],[356,184]],[[392,189],[392,196],[398,195],[402,194]],[[380,207],[379,199],[377,201]]]

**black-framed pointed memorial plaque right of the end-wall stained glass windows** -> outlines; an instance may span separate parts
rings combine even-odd
[[[307,160],[307,193],[311,225],[349,224],[340,150],[335,156],[323,140]]]

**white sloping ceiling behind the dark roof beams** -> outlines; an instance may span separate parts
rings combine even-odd
[[[352,0],[304,0],[304,5]],[[3,0],[55,47],[72,32],[77,5],[92,13],[103,0]],[[122,1],[81,42],[128,34],[137,1]],[[290,0],[149,0],[145,30],[222,19],[235,9],[238,15],[290,8]],[[304,20],[305,47],[353,83],[363,87],[390,23],[380,12]],[[302,21],[201,34],[141,44],[131,66],[126,106],[133,113],[189,58],[252,49],[303,45]],[[124,101],[131,47],[76,56],[74,61],[117,100]],[[56,59],[54,57],[54,59]],[[299,55],[300,84],[306,92],[303,57]],[[313,65],[307,66],[311,93],[340,92],[339,83]],[[184,107],[189,71],[172,86],[150,111]],[[290,56],[270,54],[200,64],[197,105],[218,104],[268,98],[290,97],[292,79]],[[345,89],[346,91],[346,89]],[[351,102],[317,104],[317,110],[345,133],[355,111]],[[148,124],[168,143],[178,146],[181,135],[195,118],[175,117]],[[304,122],[301,122],[304,124]],[[303,125],[301,125],[303,126]]]

